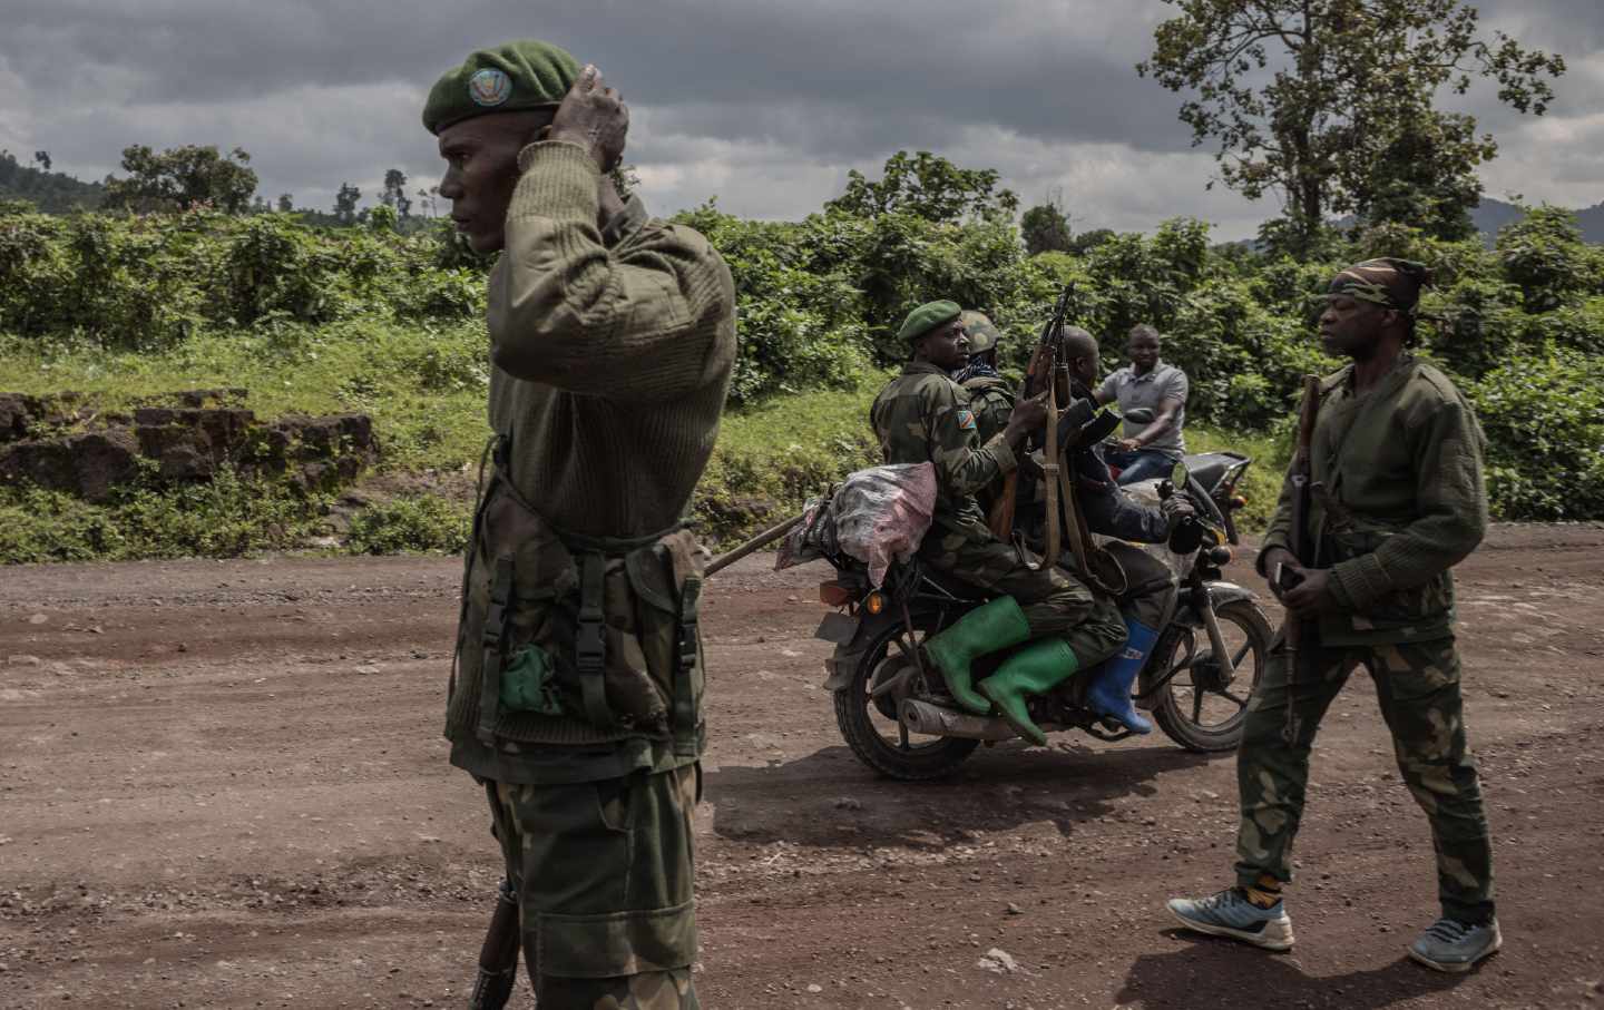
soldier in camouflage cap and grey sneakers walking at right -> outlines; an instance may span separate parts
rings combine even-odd
[[[1331,279],[1320,316],[1327,353],[1351,364],[1320,383],[1307,534],[1296,558],[1291,479],[1259,548],[1259,574],[1291,617],[1318,627],[1296,669],[1270,651],[1253,691],[1237,784],[1237,883],[1169,911],[1201,933],[1259,947],[1293,946],[1282,899],[1293,879],[1309,750],[1349,675],[1376,685],[1399,774],[1431,822],[1442,917],[1408,955],[1468,972],[1498,951],[1492,837],[1464,734],[1450,569],[1487,529],[1484,438],[1471,404],[1416,358],[1415,317],[1429,271],[1410,260],[1367,260]]]

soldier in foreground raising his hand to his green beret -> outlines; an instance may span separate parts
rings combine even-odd
[[[683,516],[735,361],[730,271],[619,197],[629,111],[555,45],[473,53],[423,125],[452,221],[502,253],[451,762],[489,800],[539,1005],[696,1007],[706,728]],[[481,973],[473,1005],[510,989],[510,972]]]

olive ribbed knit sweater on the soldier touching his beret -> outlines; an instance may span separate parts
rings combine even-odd
[[[735,284],[690,228],[638,200],[597,228],[600,173],[577,144],[518,156],[491,271],[491,426],[512,479],[558,529],[638,537],[677,523],[719,433]]]

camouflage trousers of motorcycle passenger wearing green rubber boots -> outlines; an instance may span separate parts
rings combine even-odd
[[[1030,636],[1057,635],[1084,670],[1113,656],[1124,644],[1120,608],[1062,568],[1030,571],[1019,553],[994,539],[932,527],[919,556],[970,585],[1012,596],[1025,611]]]

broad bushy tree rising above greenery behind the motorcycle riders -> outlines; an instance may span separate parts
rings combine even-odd
[[[871,183],[853,168],[847,173],[847,191],[824,204],[863,218],[906,212],[927,221],[959,221],[1012,218],[1019,197],[998,189],[994,168],[959,168],[945,157],[921,151],[909,157],[898,151],[885,162],[879,183]]]

